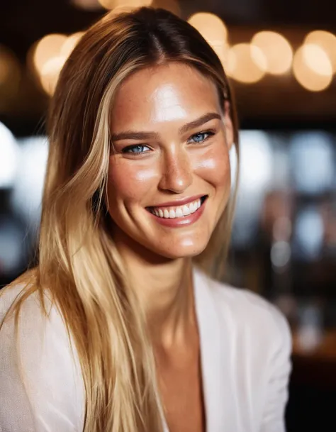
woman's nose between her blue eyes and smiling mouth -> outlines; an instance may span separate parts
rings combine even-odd
[[[181,194],[192,182],[192,167],[184,149],[171,148],[162,157],[159,189]]]

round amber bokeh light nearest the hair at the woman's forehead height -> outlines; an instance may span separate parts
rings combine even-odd
[[[233,45],[228,52],[227,72],[245,84],[258,82],[267,69],[267,60],[260,48],[249,43]]]

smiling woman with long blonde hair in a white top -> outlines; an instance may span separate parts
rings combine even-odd
[[[38,267],[1,296],[2,432],[284,431],[286,321],[211,279],[237,123],[210,46],[164,10],[106,16],[49,137]]]

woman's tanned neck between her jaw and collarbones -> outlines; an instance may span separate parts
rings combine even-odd
[[[185,343],[196,326],[191,258],[154,257],[114,238],[145,311],[153,345],[169,349]]]

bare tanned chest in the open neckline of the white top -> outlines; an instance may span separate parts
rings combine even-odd
[[[189,362],[158,364],[159,390],[169,432],[205,432],[201,367]]]

